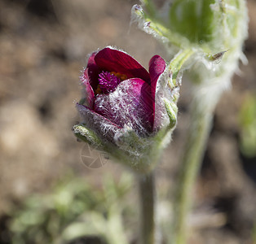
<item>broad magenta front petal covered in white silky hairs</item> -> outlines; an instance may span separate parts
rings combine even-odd
[[[152,132],[151,88],[139,78],[122,81],[113,93],[98,95],[94,106],[97,113],[121,128],[128,126],[140,135]]]

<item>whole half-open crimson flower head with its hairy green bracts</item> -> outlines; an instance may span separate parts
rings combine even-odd
[[[77,109],[82,124],[74,127],[75,133],[117,159],[128,157],[128,164],[140,168],[143,155],[152,145],[162,147],[159,143],[176,121],[165,60],[153,56],[148,72],[124,51],[106,47],[90,54],[81,80],[83,98]],[[169,100],[164,99],[167,96]],[[160,139],[161,129],[166,130]]]

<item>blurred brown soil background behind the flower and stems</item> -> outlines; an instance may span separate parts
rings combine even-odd
[[[113,204],[130,243],[138,243],[135,178],[111,160],[85,165],[81,155],[88,149],[72,132],[79,76],[92,51],[117,46],[145,68],[154,54],[170,60],[130,23],[135,3],[0,0],[0,243],[106,243],[107,227],[97,232],[90,226],[92,212],[104,226]],[[256,1],[248,7],[249,63],[216,108],[193,193],[189,243],[256,243]],[[157,168],[157,194],[167,204],[189,126],[189,89],[185,75],[178,127]]]

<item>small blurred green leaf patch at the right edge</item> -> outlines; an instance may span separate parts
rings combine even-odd
[[[248,158],[256,156],[256,94],[247,94],[241,106],[241,152]]]

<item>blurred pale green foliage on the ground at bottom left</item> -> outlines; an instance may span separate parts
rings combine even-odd
[[[118,183],[106,176],[103,189],[95,189],[81,177],[66,176],[51,194],[34,194],[11,211],[11,243],[62,244],[86,236],[126,243],[121,220],[129,212],[124,196],[131,182],[127,174]],[[117,236],[113,229],[119,231]]]

